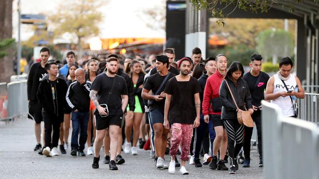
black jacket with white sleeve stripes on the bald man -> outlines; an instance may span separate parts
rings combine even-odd
[[[78,81],[74,81],[66,92],[66,102],[70,108],[79,112],[89,112],[90,110],[90,86],[88,82],[82,85]]]

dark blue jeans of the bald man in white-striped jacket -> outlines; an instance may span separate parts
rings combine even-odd
[[[89,121],[89,112],[72,112],[72,137],[71,148],[76,150],[84,150],[87,138],[87,123]],[[80,140],[79,138],[80,131]],[[80,144],[80,146],[79,146]]]

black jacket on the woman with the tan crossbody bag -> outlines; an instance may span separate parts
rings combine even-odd
[[[236,82],[236,86],[233,81],[226,79],[229,87],[232,90],[236,103],[239,109],[245,111],[246,109],[252,108],[251,95],[249,87],[245,80],[239,78]],[[219,96],[221,104],[223,105],[221,109],[221,118],[223,119],[236,119],[237,118],[237,108],[232,99],[232,96],[228,90],[226,82],[223,80],[219,89]]]

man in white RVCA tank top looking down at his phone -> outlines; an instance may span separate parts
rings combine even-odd
[[[279,62],[279,71],[270,77],[265,93],[265,99],[271,100],[271,103],[278,105],[286,117],[294,116],[290,96],[294,95],[297,98],[305,97],[305,92],[302,89],[299,78],[291,74],[292,67],[292,60],[289,57],[281,59]],[[286,84],[288,90],[284,84]],[[298,86],[298,92],[294,91],[296,86]]]

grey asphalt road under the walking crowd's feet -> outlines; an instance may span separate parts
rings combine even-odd
[[[72,157],[70,150],[56,157],[38,155],[33,151],[36,144],[33,126],[29,119],[18,119],[8,124],[0,122],[0,179],[261,179],[263,176],[263,169],[258,167],[256,149],[251,152],[251,167],[239,165],[236,175],[213,171],[208,165],[195,168],[188,164],[188,176],[181,175],[179,169],[175,174],[169,174],[167,170],[157,170],[153,159],[149,158],[149,151],[141,149],[138,149],[137,156],[123,154],[126,162],[118,165],[118,171],[110,171],[102,160],[99,169],[92,169],[93,156]],[[103,151],[101,156],[104,156]],[[165,159],[165,163],[169,164],[169,156]]]

